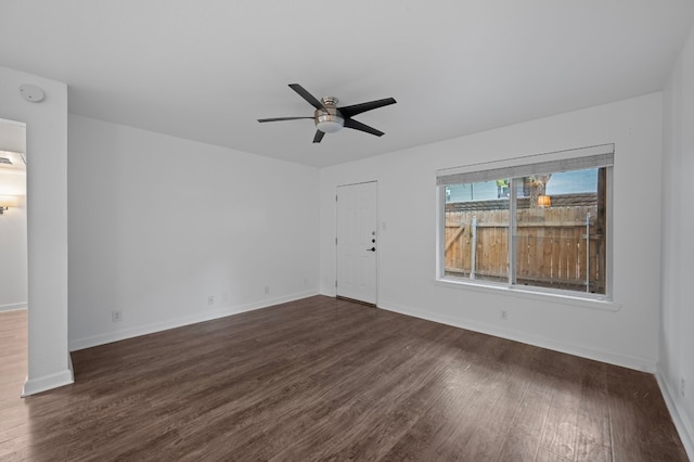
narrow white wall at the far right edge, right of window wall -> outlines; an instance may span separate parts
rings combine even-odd
[[[665,91],[663,297],[658,378],[694,459],[694,29]],[[681,381],[684,380],[684,394]]]

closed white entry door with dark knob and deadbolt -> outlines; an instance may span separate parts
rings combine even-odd
[[[376,182],[337,187],[337,296],[376,304]]]

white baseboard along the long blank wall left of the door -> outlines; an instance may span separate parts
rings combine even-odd
[[[299,300],[301,298],[318,295],[318,291],[306,291],[296,294],[285,295],[270,299],[262,299],[246,305],[237,305],[224,307],[215,311],[206,311],[200,315],[187,316],[182,318],[169,319],[162,322],[151,324],[137,325],[123,329],[116,332],[107,332],[103,334],[92,335],[85,338],[75,338],[69,341],[69,350],[91,348],[99,345],[110,344],[112,342],[125,341],[127,338],[139,337],[141,335],[153,334],[155,332],[168,331],[169,329],[182,328],[183,325],[196,324],[198,322],[211,321],[213,319],[224,318],[227,316],[239,315],[246,311],[253,311],[261,308],[284,304],[287,301]]]

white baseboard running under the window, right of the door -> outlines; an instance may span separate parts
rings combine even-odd
[[[414,309],[409,307],[396,306],[387,301],[378,303],[378,308],[386,309],[388,311],[399,312],[401,315],[412,316],[414,318],[425,319],[427,321],[434,321],[441,324],[452,325],[454,328],[466,329],[470,331],[479,332],[483,334],[493,335],[496,337],[507,338],[510,341],[520,342],[528,345],[534,345],[540,348],[547,348],[554,351],[565,352],[567,355],[580,356],[581,358],[593,359],[595,361],[606,362],[609,364],[620,365],[624,368],[634,369],[637,371],[644,371],[655,373],[656,360],[650,358],[638,358],[628,355],[616,354],[613,351],[597,350],[593,348],[587,348],[580,345],[574,345],[565,342],[558,342],[552,338],[544,338],[534,335],[528,335],[524,332],[513,331],[507,329],[501,329],[497,325],[485,324],[480,322],[451,318],[434,313],[430,311],[424,311],[421,309]]]

